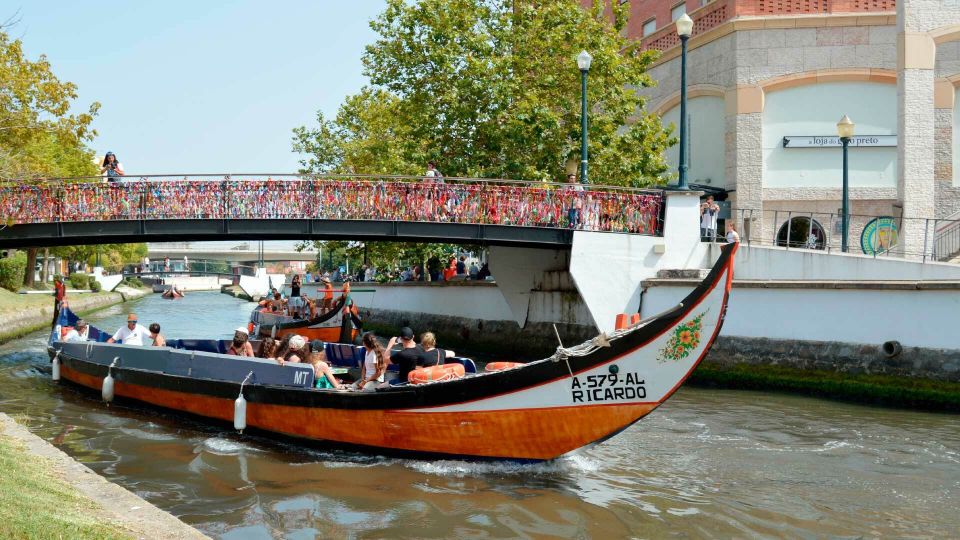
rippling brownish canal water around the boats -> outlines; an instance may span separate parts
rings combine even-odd
[[[169,337],[252,304],[153,295]],[[215,538],[955,537],[960,416],[683,388],[610,441],[539,465],[403,461],[239,436],[52,383],[43,333],[0,346],[0,411]],[[333,420],[335,421],[335,419]],[[162,532],[158,532],[162,536]]]

